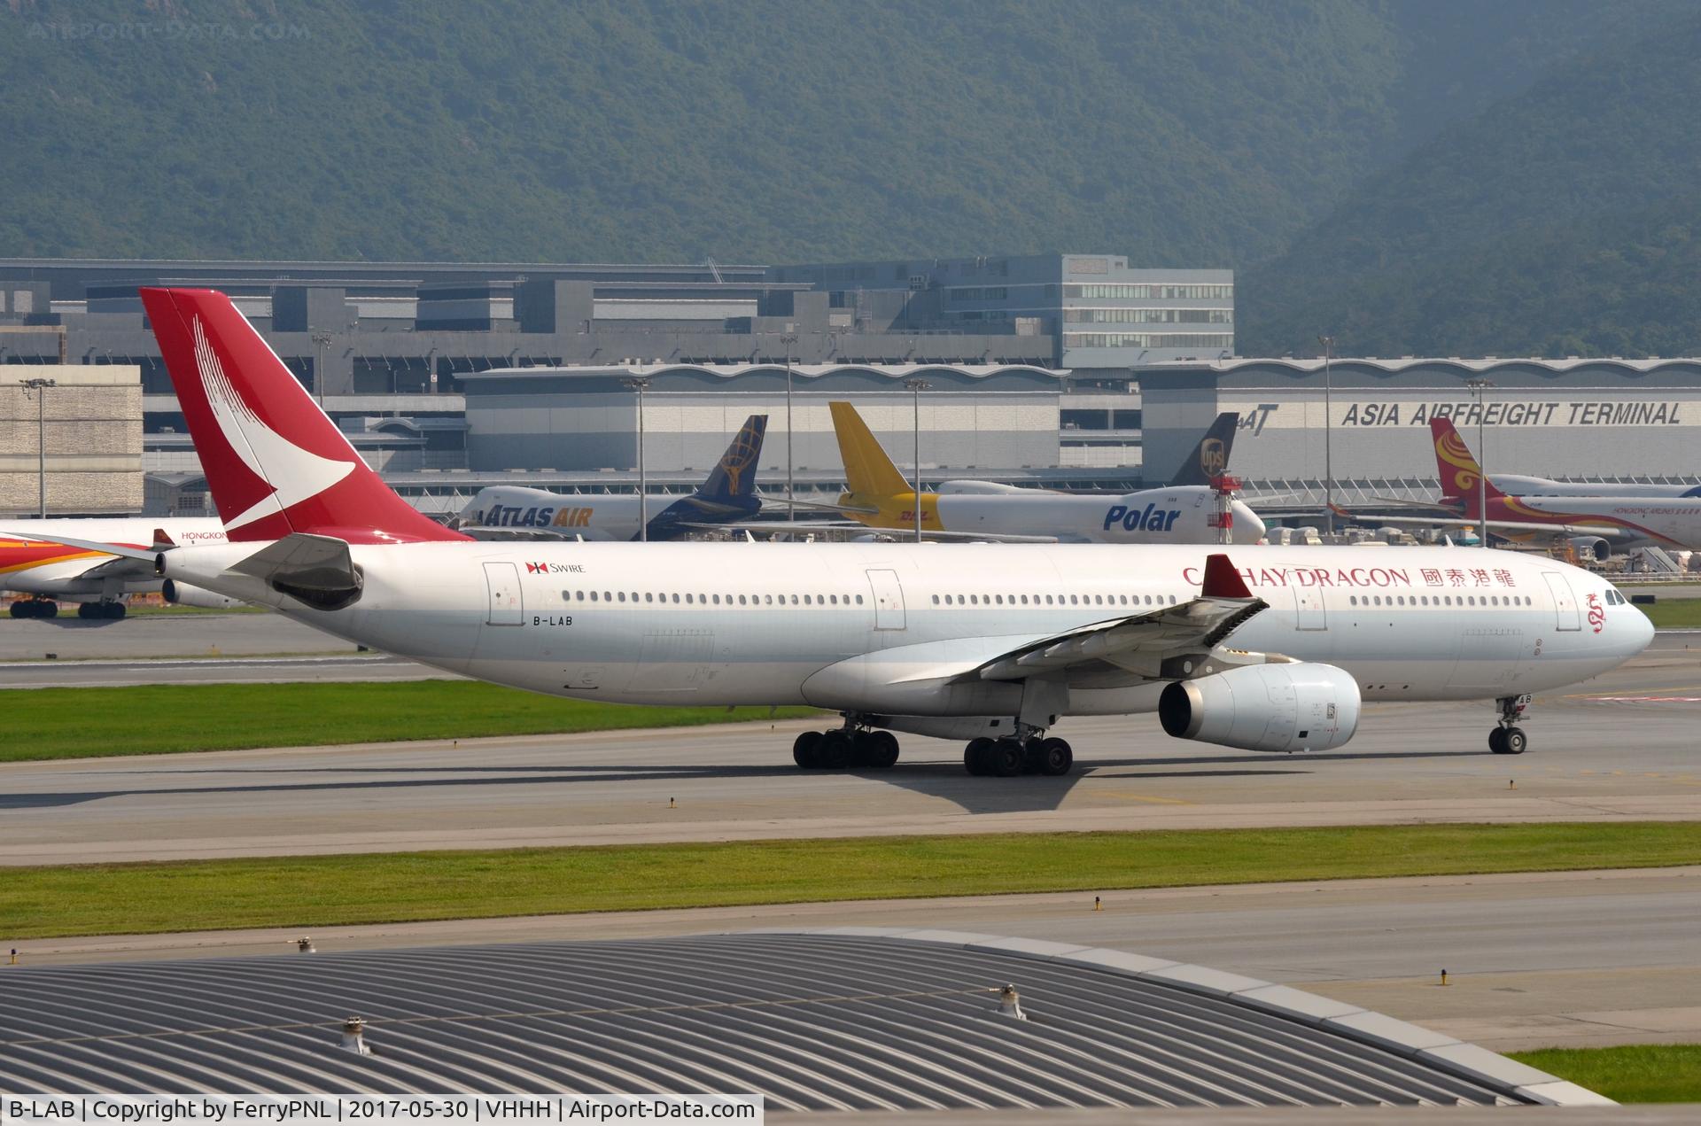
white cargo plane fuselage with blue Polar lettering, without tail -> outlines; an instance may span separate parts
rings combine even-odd
[[[1123,497],[1080,497],[1017,490],[942,493],[936,500],[947,532],[1056,536],[1063,543],[1215,544],[1216,495],[1203,485],[1146,488]],[[1264,536],[1264,520],[1232,502],[1233,543]]]

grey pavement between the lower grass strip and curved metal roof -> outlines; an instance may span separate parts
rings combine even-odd
[[[1701,1039],[1701,867],[886,900],[313,929],[321,951],[759,927],[944,927],[1301,985],[1482,1043]],[[301,930],[24,944],[26,964],[276,954]],[[3,935],[0,935],[3,937]],[[1451,985],[1441,987],[1441,970]],[[1017,983],[1019,985],[1019,983]]]

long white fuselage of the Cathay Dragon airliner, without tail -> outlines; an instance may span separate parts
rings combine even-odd
[[[1010,716],[1021,685],[946,684],[1036,638],[1199,594],[1211,546],[356,546],[362,594],[313,611],[225,568],[262,544],[168,553],[172,577],[429,665],[638,704],[813,704]],[[1485,699],[1641,651],[1648,619],[1589,572],[1471,548],[1240,548],[1269,602],[1223,645],[1345,668],[1368,699]],[[247,587],[233,587],[247,582]],[[1114,672],[1114,670],[1112,670]],[[1162,684],[1072,675],[1065,714],[1155,708]]]

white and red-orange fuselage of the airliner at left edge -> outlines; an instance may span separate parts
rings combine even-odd
[[[19,590],[66,600],[116,599],[121,594],[158,590],[156,577],[85,577],[109,561],[100,551],[63,548],[54,536],[148,548],[155,531],[172,543],[199,548],[225,543],[225,526],[216,517],[90,517],[48,520],[0,520],[0,590]]]

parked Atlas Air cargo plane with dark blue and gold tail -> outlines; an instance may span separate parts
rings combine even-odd
[[[694,493],[648,497],[648,539],[679,539],[692,527],[742,520],[762,510],[755,466],[767,415],[750,415],[733,444]],[[640,539],[638,495],[565,497],[541,488],[495,485],[461,512],[458,527],[475,539]]]

